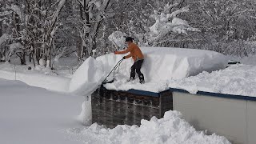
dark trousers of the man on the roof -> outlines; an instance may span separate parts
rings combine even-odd
[[[138,60],[137,62],[134,62],[133,66],[131,66],[130,70],[130,78],[135,78],[135,71],[138,74],[138,78],[140,80],[144,80],[144,75],[141,72],[142,63],[144,62],[144,59]]]

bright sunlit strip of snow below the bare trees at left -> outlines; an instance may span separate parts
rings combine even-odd
[[[30,86],[62,92],[68,92],[70,85],[70,78],[59,76],[54,71],[40,66],[37,66],[35,70],[27,70],[27,66],[2,63],[0,64],[0,78],[19,80]]]

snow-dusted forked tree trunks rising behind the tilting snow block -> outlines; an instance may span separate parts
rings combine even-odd
[[[96,49],[97,37],[102,21],[108,17],[106,9],[110,0],[77,0],[80,8],[80,40],[81,49],[78,50],[79,58],[87,58],[92,50]]]

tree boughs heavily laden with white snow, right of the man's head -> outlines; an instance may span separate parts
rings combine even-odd
[[[189,22],[178,18],[179,14],[189,11],[189,6],[184,6],[181,9],[174,9],[178,3],[166,4],[154,10],[152,17],[154,18],[154,25],[150,26],[150,32],[147,35],[149,44],[154,46],[165,46],[166,42],[172,42],[174,35],[187,34],[186,31],[200,31],[189,25]],[[164,44],[164,45],[162,45]]]

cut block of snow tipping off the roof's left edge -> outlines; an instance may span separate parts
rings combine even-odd
[[[76,94],[90,94],[101,84],[103,75],[102,62],[87,58],[71,78],[69,90]]]

